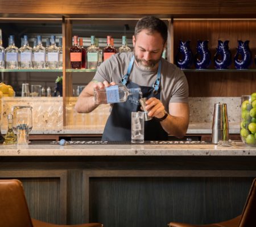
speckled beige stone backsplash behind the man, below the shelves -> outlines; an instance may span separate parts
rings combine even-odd
[[[76,113],[77,97],[69,98],[66,105],[68,125],[104,126],[108,119],[109,105],[101,105],[91,113]],[[226,103],[230,123],[240,122],[240,97],[190,97],[190,123],[211,123],[214,103]],[[7,115],[13,106],[32,106],[33,128],[63,127],[63,99],[61,97],[3,97],[0,99],[1,128],[7,128]]]

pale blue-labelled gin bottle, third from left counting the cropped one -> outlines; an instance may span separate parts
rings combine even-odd
[[[20,69],[32,68],[32,48],[28,45],[28,37],[24,35],[24,45],[19,48]]]

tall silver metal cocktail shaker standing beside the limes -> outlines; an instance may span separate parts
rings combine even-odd
[[[215,103],[212,120],[212,143],[222,144],[229,140],[229,122],[226,103]]]

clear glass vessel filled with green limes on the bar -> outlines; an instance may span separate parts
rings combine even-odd
[[[256,93],[241,97],[240,136],[244,144],[256,146]]]

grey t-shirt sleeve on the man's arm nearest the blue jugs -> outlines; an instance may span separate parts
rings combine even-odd
[[[172,91],[170,103],[188,103],[188,81],[185,74],[177,68],[175,70],[176,80]]]

